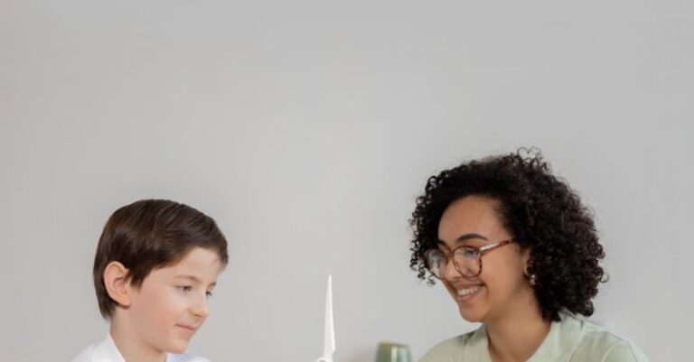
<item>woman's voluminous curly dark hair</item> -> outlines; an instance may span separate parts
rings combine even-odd
[[[522,248],[530,248],[528,273],[536,277],[543,319],[560,320],[560,311],[593,314],[591,300],[606,281],[593,212],[551,174],[535,148],[464,162],[428,179],[409,220],[414,234],[409,265],[420,279],[435,283],[425,253],[437,247],[445,209],[469,195],[498,201],[502,225]]]

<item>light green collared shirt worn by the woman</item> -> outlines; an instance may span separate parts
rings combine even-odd
[[[419,362],[492,362],[483,325],[464,335],[445,340],[431,348]],[[630,341],[603,328],[561,314],[552,322],[549,334],[528,362],[648,362]]]

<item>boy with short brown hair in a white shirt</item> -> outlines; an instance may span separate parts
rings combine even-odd
[[[93,270],[110,332],[73,362],[208,361],[183,352],[207,318],[207,298],[228,260],[220,229],[196,209],[169,200],[117,209]]]

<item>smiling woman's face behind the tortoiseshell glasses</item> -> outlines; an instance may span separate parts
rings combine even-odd
[[[449,253],[457,246],[480,247],[511,239],[497,205],[482,196],[452,203],[438,224],[438,247]],[[528,255],[517,243],[492,249],[483,254],[482,273],[475,277],[460,274],[452,261],[445,265],[441,280],[457,302],[460,315],[469,321],[490,322],[525,312],[529,306],[537,308],[524,275]]]

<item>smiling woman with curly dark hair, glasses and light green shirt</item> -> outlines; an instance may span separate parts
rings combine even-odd
[[[410,266],[440,280],[478,330],[420,362],[647,361],[583,320],[604,282],[592,215],[537,151],[465,162],[427,181],[410,224]],[[436,279],[435,279],[436,278]]]

